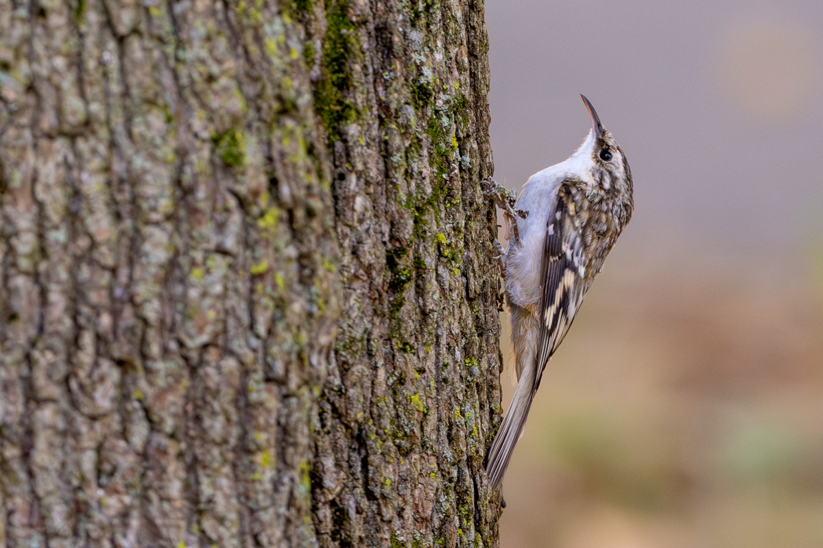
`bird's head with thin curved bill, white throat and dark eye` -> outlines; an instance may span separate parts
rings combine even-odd
[[[580,97],[583,98],[588,117],[592,120],[592,131],[589,131],[583,145],[580,145],[567,162],[574,166],[574,172],[579,173],[587,182],[600,187],[602,191],[630,194],[631,169],[623,149],[611,136],[611,131],[600,123],[600,117],[588,99],[584,95]]]

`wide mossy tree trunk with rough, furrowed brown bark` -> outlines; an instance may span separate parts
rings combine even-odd
[[[0,544],[496,546],[481,0],[0,0]]]

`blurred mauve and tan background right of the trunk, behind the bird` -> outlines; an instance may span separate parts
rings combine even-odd
[[[486,0],[486,23],[495,179],[568,157],[584,93],[635,180],[502,546],[820,548],[823,3]]]

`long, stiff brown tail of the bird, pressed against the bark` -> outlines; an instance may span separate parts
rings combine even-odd
[[[523,426],[526,424],[528,410],[532,408],[532,399],[534,399],[534,377],[534,366],[527,366],[523,375],[520,375],[520,382],[514,390],[514,398],[509,405],[509,410],[503,417],[503,424],[500,425],[495,440],[491,442],[486,476],[489,477],[492,488],[503,479],[503,474],[509,467],[514,444],[517,444],[520,436],[523,435]]]

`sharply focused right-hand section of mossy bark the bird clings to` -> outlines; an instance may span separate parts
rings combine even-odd
[[[482,460],[500,359],[495,217],[479,185],[482,6],[337,0],[326,22],[318,106],[344,320],[320,402],[320,546],[491,546]]]

